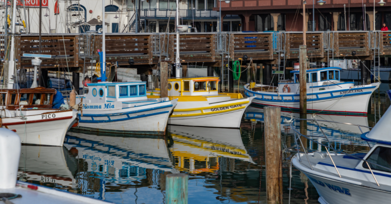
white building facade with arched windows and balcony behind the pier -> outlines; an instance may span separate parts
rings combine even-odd
[[[6,12],[4,1],[0,31],[6,29],[6,13],[12,12],[11,4]],[[217,31],[219,0],[179,0],[180,24],[197,28],[198,32]],[[39,0],[18,0],[17,31],[39,32]],[[136,8],[138,23],[136,23]],[[175,30],[175,0],[105,0],[106,32],[172,32]],[[12,15],[10,15],[12,16]],[[102,0],[43,0],[42,33],[77,33],[98,30],[102,25]],[[25,21],[26,27],[23,25]],[[20,22],[20,23],[19,23]],[[224,31],[241,31],[238,15],[227,14]]]

